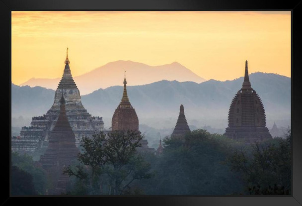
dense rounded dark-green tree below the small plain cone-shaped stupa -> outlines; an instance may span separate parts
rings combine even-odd
[[[242,189],[242,183],[222,164],[233,140],[204,129],[189,132],[183,138],[164,138],[164,150],[152,166],[155,177],[144,181],[150,195],[230,195]]]

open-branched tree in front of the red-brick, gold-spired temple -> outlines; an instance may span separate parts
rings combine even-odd
[[[93,138],[83,138],[80,165],[68,167],[65,173],[82,180],[89,179],[89,194],[121,195],[135,180],[150,178],[150,165],[137,153],[144,137],[136,131],[112,131]],[[77,182],[79,184],[79,182]]]

